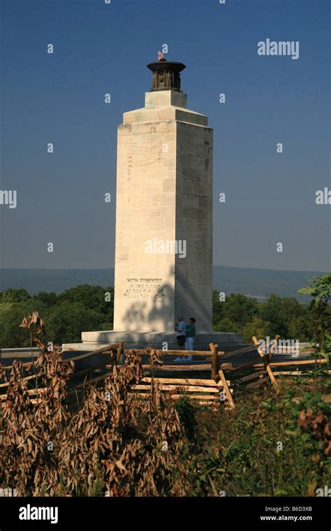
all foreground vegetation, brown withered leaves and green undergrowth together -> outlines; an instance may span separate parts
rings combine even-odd
[[[235,411],[226,411],[185,394],[174,407],[157,386],[149,407],[146,400],[135,407],[126,402],[129,365],[91,388],[74,410],[64,393],[68,364],[59,354],[44,358],[40,378],[49,391],[40,402],[31,404],[19,366],[8,388],[3,487],[34,496],[229,497],[316,496],[331,484],[324,370],[279,381],[279,395],[269,384],[243,390]],[[138,374],[137,359],[131,362]]]

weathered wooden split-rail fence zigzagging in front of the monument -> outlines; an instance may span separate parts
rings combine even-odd
[[[98,384],[105,378],[109,377],[114,370],[122,368],[122,360],[125,354],[138,354],[139,356],[149,356],[151,353],[156,354],[159,359],[167,358],[168,356],[192,356],[196,358],[194,362],[175,363],[169,365],[168,363],[142,363],[144,377],[131,388],[131,395],[139,400],[144,400],[148,397],[152,382],[159,386],[162,393],[168,395],[169,398],[177,400],[182,396],[189,396],[192,400],[196,400],[199,404],[217,405],[223,404],[226,409],[235,409],[233,395],[237,391],[243,389],[258,387],[269,382],[276,393],[279,392],[279,384],[277,379],[284,377],[295,377],[302,374],[307,374],[309,368],[321,366],[327,363],[324,358],[314,358],[309,360],[297,360],[293,358],[290,361],[275,362],[272,361],[274,356],[274,345],[272,345],[270,352],[265,353],[260,349],[256,337],[253,337],[253,344],[248,347],[242,347],[234,351],[220,351],[217,344],[210,343],[209,351],[182,351],[182,350],[158,350],[158,349],[124,349],[123,342],[117,344],[110,344],[106,347],[91,351],[87,354],[80,354],[70,358],[75,365],[80,361],[91,358],[98,354],[103,354],[104,358],[100,363],[94,367],[85,368],[83,370],[75,370],[71,380],[76,392],[79,389],[84,389],[92,384]],[[278,340],[279,336],[275,337]],[[240,356],[240,354],[247,354],[249,352],[257,353],[256,360],[234,365],[226,362],[226,358],[233,356]],[[102,356],[103,357],[103,356]],[[200,359],[199,359],[200,358]],[[152,359],[152,358],[150,358]],[[68,360],[69,361],[69,360]],[[24,363],[23,368],[31,368],[32,362]],[[308,369],[307,369],[308,368]],[[12,369],[8,366],[6,371]],[[300,369],[304,369],[303,371]],[[93,373],[99,370],[101,374],[93,376]],[[328,371],[330,373],[330,371]],[[34,374],[24,377],[25,380],[31,380],[31,384],[35,379]],[[83,381],[81,381],[83,379]],[[9,385],[8,381],[0,383],[1,391],[6,391]],[[39,388],[30,388],[28,390],[32,400],[35,402],[38,396],[42,396],[45,390]],[[0,395],[1,401],[6,400],[6,392]]]

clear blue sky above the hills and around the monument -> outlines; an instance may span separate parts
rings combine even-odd
[[[300,41],[300,58],[260,57],[266,38]],[[0,189],[17,190],[2,267],[113,267],[117,124],[167,43],[214,128],[214,264],[330,270],[328,0],[3,0],[1,41]]]

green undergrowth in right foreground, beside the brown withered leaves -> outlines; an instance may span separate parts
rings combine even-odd
[[[245,393],[235,413],[177,402],[191,459],[189,495],[314,496],[330,484],[330,381]]]

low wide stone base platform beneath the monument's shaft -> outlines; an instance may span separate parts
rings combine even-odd
[[[155,347],[162,349],[164,343],[168,350],[178,349],[175,332],[128,332],[104,330],[100,332],[82,332],[81,343],[64,343],[62,351],[66,350],[97,350],[111,343],[124,342],[124,349],[147,349]],[[200,332],[194,341],[194,350],[209,350],[209,343],[219,345],[219,351],[226,351],[228,347],[242,342],[240,333]],[[164,348],[164,347],[163,347]]]

